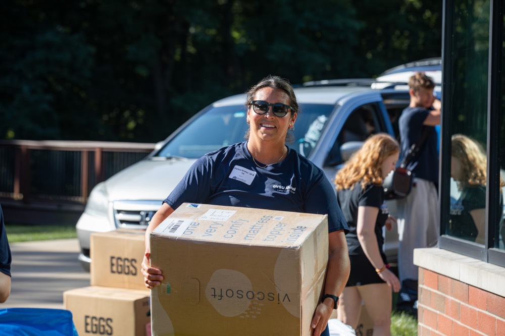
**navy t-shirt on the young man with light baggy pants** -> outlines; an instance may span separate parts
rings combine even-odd
[[[398,165],[403,161],[413,144],[423,135],[424,128],[430,129],[428,137],[419,153],[409,163],[414,176],[438,184],[437,132],[433,126],[424,126],[430,110],[423,107],[407,107],[398,120],[401,154]]]

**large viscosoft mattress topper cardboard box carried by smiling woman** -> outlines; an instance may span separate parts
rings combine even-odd
[[[154,335],[309,335],[327,215],[182,204],[150,234]]]

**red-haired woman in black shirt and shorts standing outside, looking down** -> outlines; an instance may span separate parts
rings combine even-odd
[[[372,135],[335,176],[338,204],[349,226],[350,260],[337,318],[356,329],[364,302],[374,322],[374,335],[391,334],[391,290],[400,290],[399,279],[388,268],[382,235],[382,227],[391,230],[394,220],[382,184],[394,169],[399,151],[390,135]]]

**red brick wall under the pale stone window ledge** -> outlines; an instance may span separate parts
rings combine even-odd
[[[505,298],[419,267],[418,321],[420,336],[505,336]]]

